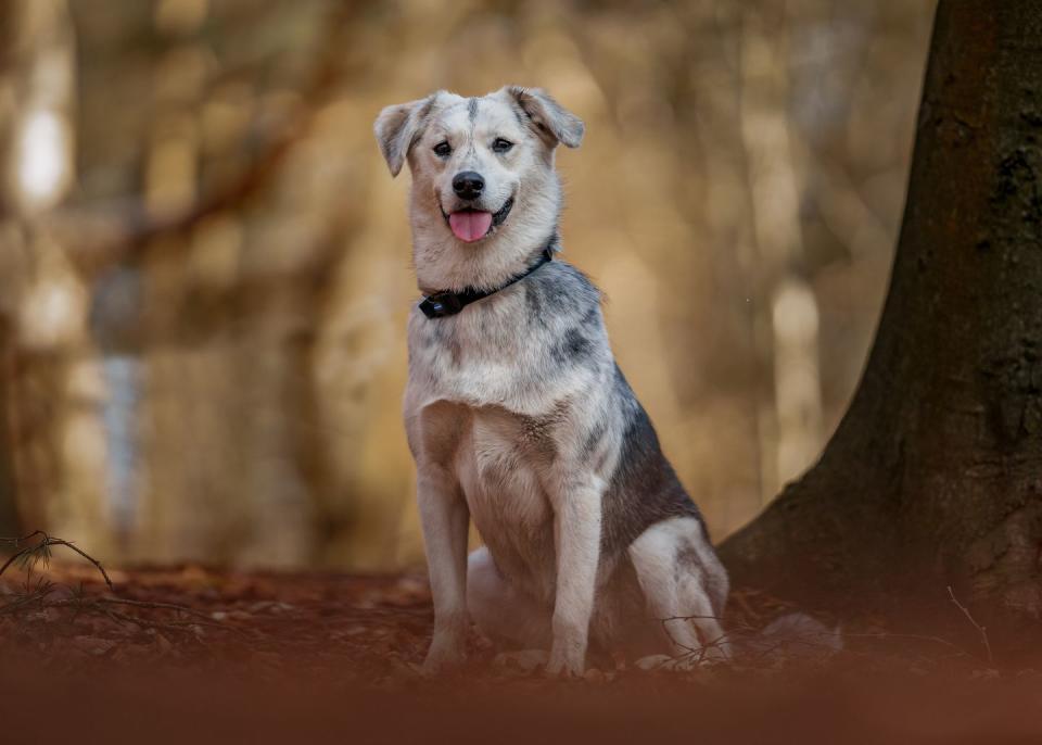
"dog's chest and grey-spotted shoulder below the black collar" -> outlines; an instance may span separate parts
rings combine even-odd
[[[408,336],[405,419],[418,469],[458,484],[499,570],[550,601],[550,495],[562,479],[596,479],[579,458],[612,463],[581,454],[614,390],[598,295],[555,262],[458,315],[415,312]]]

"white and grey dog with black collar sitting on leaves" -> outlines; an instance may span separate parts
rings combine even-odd
[[[374,125],[412,174],[404,416],[434,602],[423,664],[472,620],[504,649],[724,659],[728,593],[698,507],[608,343],[598,289],[561,261],[558,146],[583,122],[541,89],[437,91]],[[484,546],[468,556],[470,521]],[[672,619],[672,620],[671,620]]]

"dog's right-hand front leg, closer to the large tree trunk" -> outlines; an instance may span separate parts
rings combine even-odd
[[[546,668],[550,675],[582,675],[586,665],[600,561],[602,492],[594,484],[573,483],[560,489],[555,501],[557,595],[554,642]]]

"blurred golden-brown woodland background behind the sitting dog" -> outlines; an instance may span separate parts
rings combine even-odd
[[[371,134],[542,86],[566,257],[716,539],[816,457],[900,222],[929,0],[4,0],[0,533],[109,561],[422,561],[416,298]]]

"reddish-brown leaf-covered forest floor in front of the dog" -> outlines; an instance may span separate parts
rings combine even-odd
[[[421,574],[107,571],[111,588],[58,560],[0,580],[10,742],[1042,742],[1042,672],[871,619],[827,658],[608,659],[567,682],[497,664],[474,634],[463,670],[424,679]],[[784,610],[733,606],[750,623]]]

